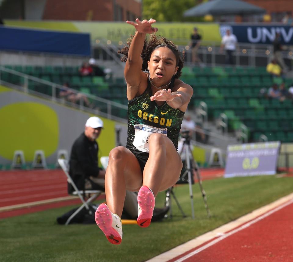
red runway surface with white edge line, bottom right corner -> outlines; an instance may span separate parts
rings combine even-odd
[[[293,261],[293,200],[171,261]]]

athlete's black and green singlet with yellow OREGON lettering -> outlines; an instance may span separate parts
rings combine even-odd
[[[177,150],[184,112],[170,107],[167,102],[158,106],[155,101],[150,100],[151,96],[152,91],[148,80],[147,88],[143,94],[128,101],[128,136],[126,148],[133,153],[148,155],[148,153],[140,152],[141,150],[133,145],[136,135],[135,125],[137,125],[140,128],[144,126],[146,129],[148,129],[148,126],[157,128],[159,131],[155,133],[167,133],[167,137],[171,139]]]

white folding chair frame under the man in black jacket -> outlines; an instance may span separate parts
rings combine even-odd
[[[71,186],[74,188],[74,191],[71,193],[72,195],[77,195],[82,205],[67,219],[65,225],[68,225],[72,218],[74,218],[83,207],[85,207],[89,214],[92,214],[92,210],[90,209],[90,206],[92,206],[94,209],[96,209],[96,206],[92,204],[92,201],[95,200],[103,191],[101,190],[79,190],[75,183],[73,182],[71,176],[68,173],[68,161],[66,159],[59,158],[58,163],[62,170],[64,171],[65,175],[67,176],[67,182],[71,184]],[[85,201],[83,195],[92,195],[88,198],[88,200]]]

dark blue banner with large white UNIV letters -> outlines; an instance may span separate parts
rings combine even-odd
[[[230,29],[239,43],[272,44],[276,33],[280,33],[280,43],[293,44],[293,27],[283,25],[221,25],[220,31],[223,36]]]

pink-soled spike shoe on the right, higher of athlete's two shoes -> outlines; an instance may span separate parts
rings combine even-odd
[[[151,189],[147,186],[142,186],[137,195],[138,202],[138,218],[137,225],[146,228],[150,225],[154,214],[155,196]]]

